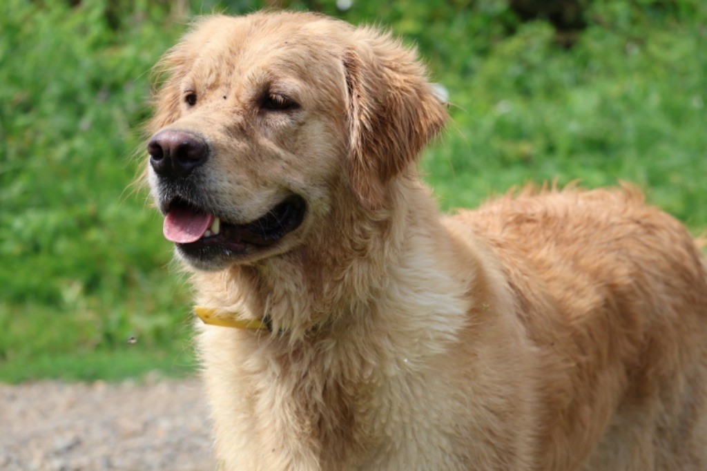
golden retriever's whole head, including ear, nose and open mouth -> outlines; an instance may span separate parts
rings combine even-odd
[[[385,208],[446,117],[414,52],[314,14],[203,18],[160,66],[148,181],[199,269],[293,250],[341,201]]]

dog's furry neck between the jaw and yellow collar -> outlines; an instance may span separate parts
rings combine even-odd
[[[195,275],[210,277],[208,283],[197,280],[197,286],[212,287],[199,293],[199,300],[245,318],[267,318],[273,332],[291,341],[348,328],[368,315],[391,279],[396,289],[404,286],[399,267],[411,244],[406,235],[445,236],[436,216],[429,221],[417,216],[436,214],[422,210],[433,204],[414,180],[392,186],[387,209],[368,211],[351,199],[337,202],[331,223],[312,231],[303,248],[221,274]],[[411,224],[421,227],[410,231]]]

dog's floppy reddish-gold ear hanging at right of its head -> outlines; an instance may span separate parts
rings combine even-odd
[[[367,209],[385,205],[387,182],[443,127],[444,104],[425,79],[414,51],[390,35],[357,30],[344,57],[349,109],[348,172]],[[356,34],[354,33],[354,34]]]

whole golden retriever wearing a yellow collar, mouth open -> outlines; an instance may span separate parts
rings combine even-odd
[[[414,52],[312,13],[165,55],[146,173],[225,470],[707,470],[707,273],[631,187],[440,214]]]

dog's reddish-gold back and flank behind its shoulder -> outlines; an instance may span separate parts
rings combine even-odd
[[[501,260],[553,373],[545,469],[707,469],[703,255],[636,190],[530,193],[455,219]]]

